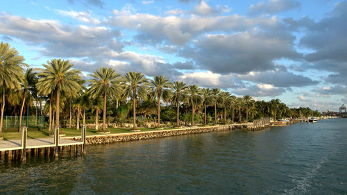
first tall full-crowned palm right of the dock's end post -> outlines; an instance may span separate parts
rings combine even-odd
[[[101,67],[90,74],[90,94],[93,99],[103,95],[103,131],[106,129],[106,103],[108,96],[112,94],[121,94],[121,74],[117,74],[115,69]]]

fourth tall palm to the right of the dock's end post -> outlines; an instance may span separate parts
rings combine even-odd
[[[185,100],[187,94],[185,90],[187,89],[187,85],[180,81],[175,81],[174,85],[171,87],[172,92],[172,103],[177,105],[177,126],[180,126],[180,103]]]

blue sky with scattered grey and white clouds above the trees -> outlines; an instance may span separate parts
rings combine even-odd
[[[347,104],[347,1],[12,0],[0,41],[32,67],[62,58],[163,75],[291,108]]]

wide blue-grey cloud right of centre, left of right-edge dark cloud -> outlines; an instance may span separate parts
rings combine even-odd
[[[198,49],[185,49],[180,55],[194,58],[201,69],[223,74],[245,74],[273,70],[273,60],[298,60],[301,54],[295,51],[293,40],[292,35],[262,32],[205,35],[194,42]]]

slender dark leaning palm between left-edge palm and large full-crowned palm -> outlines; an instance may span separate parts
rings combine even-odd
[[[23,116],[23,109],[24,104],[26,101],[26,98],[29,98],[31,94],[35,92],[35,85],[37,83],[37,77],[35,76],[35,72],[33,72],[33,69],[26,69],[26,72],[24,74],[24,79],[22,82],[22,107],[21,111],[19,112],[19,128],[18,131],[22,129],[22,116]]]

